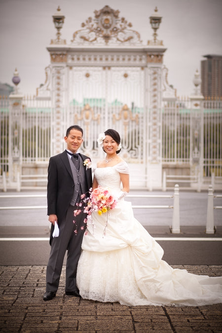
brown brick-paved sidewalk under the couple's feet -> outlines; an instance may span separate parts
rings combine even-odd
[[[222,266],[172,267],[222,275]],[[56,297],[43,301],[45,266],[0,266],[0,332],[222,332],[222,304],[176,308],[79,299],[64,293],[64,268]]]

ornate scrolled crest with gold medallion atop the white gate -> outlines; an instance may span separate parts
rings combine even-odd
[[[95,10],[95,18],[89,17],[77,30],[71,42],[77,45],[91,44],[121,44],[140,45],[142,40],[137,31],[131,30],[131,23],[124,17],[119,18],[119,11],[106,5],[100,10]]]

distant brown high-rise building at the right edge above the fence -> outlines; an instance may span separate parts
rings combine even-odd
[[[222,97],[222,56],[209,54],[201,61],[201,92],[204,97]]]

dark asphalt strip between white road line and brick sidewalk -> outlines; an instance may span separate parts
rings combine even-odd
[[[222,265],[222,242],[158,241],[170,265]],[[47,241],[0,242],[0,265],[47,265]]]

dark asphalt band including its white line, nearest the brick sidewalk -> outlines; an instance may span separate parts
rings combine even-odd
[[[222,265],[222,227],[214,235],[206,235],[202,227],[183,227],[181,234],[171,234],[164,226],[146,226],[146,229],[157,239],[164,250],[163,260],[170,265]],[[3,226],[0,236],[0,265],[47,264],[48,227]],[[21,237],[26,240],[18,240]],[[44,240],[27,240],[30,237]]]

